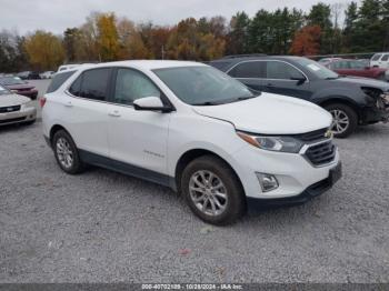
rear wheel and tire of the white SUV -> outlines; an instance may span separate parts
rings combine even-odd
[[[59,167],[66,173],[78,174],[84,170],[84,164],[80,159],[76,143],[64,130],[59,130],[54,133],[52,138],[52,149]],[[71,155],[71,159],[69,159],[67,154]]]

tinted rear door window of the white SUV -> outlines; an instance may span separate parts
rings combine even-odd
[[[111,78],[111,69],[93,69],[84,71],[70,87],[73,96],[103,101],[108,99],[108,86]]]

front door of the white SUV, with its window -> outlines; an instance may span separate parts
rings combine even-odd
[[[143,97],[161,98],[162,93],[138,70],[118,68],[114,79],[108,109],[110,158],[134,175],[159,179],[167,172],[170,113],[137,111],[132,102]]]

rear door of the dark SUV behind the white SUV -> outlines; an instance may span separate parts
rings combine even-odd
[[[262,91],[266,76],[265,61],[243,61],[228,71],[228,74],[238,79],[247,87]]]

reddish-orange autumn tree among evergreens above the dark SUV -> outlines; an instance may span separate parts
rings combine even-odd
[[[299,30],[290,48],[291,54],[315,56],[320,51],[321,29],[319,26],[307,26]]]

